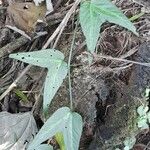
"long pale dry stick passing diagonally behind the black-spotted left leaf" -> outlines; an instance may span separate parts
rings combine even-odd
[[[57,36],[59,31],[63,28],[65,28],[70,16],[75,11],[76,7],[80,3],[81,0],[76,0],[74,5],[70,8],[60,25],[57,27],[57,29],[54,31],[54,33],[50,36],[48,41],[45,43],[45,45],[42,47],[42,49],[46,49],[49,44],[52,42],[52,40]],[[16,87],[17,82],[26,74],[26,72],[31,68],[32,65],[28,65],[23,72],[18,76],[18,78],[8,87],[8,89],[0,96],[0,101],[14,88]]]

